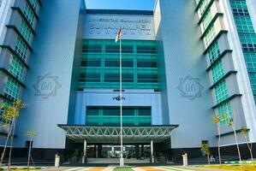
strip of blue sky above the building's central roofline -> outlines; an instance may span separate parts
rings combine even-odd
[[[86,9],[153,10],[155,0],[86,0]]]

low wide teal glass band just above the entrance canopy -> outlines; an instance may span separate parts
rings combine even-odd
[[[123,107],[123,126],[150,126],[151,108]],[[120,126],[120,107],[87,107],[86,125]]]

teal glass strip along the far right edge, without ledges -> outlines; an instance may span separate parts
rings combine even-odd
[[[253,97],[256,99],[256,34],[253,29],[253,22],[247,9],[246,0],[229,0],[229,2],[247,64],[247,71],[253,89]]]

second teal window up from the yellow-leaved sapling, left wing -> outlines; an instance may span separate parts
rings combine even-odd
[[[12,56],[10,59],[9,73],[13,74],[18,80],[22,80],[23,69],[23,64],[15,56]]]

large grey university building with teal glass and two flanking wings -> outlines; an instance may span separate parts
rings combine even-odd
[[[0,16],[1,100],[27,103],[15,132],[15,150],[23,151],[17,156],[26,156],[27,130],[38,132],[38,158],[120,150],[119,27],[127,155],[162,151],[179,160],[184,151],[201,156],[205,141],[214,151],[213,114],[222,120],[223,154],[234,155],[229,121],[256,141],[253,0],[158,0],[153,11],[2,0]],[[238,142],[246,148],[243,137]]]

